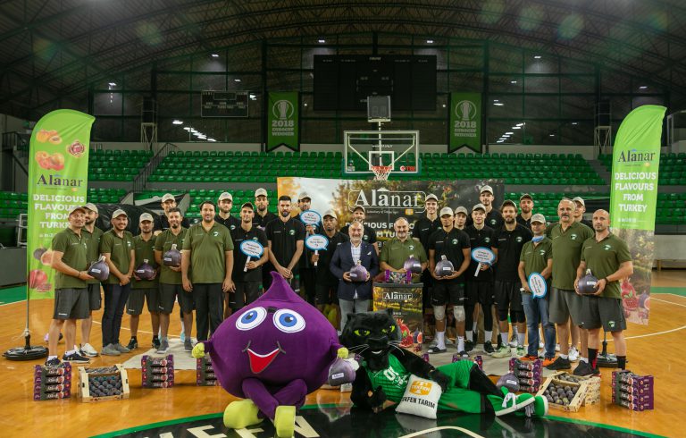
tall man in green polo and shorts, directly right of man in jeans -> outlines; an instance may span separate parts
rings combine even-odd
[[[576,268],[581,261],[583,242],[593,237],[593,231],[582,223],[574,221],[576,205],[572,199],[562,199],[557,205],[560,222],[548,229],[553,241],[553,282],[550,291],[549,320],[556,324],[557,339],[560,342],[560,356],[548,365],[548,369],[569,369],[569,341],[567,320],[581,325],[581,297],[574,292]],[[580,360],[587,361],[588,333],[581,329]]]

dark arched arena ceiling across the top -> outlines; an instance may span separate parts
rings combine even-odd
[[[672,106],[686,100],[682,0],[0,0],[0,112],[81,100],[89,83],[155,60],[369,32],[540,50],[648,80]]]

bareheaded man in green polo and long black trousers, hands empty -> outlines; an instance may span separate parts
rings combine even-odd
[[[208,331],[211,336],[222,323],[223,294],[235,290],[233,241],[229,229],[214,221],[212,201],[200,204],[200,215],[203,221],[192,225],[183,241],[181,280],[196,302],[197,341],[207,341]]]

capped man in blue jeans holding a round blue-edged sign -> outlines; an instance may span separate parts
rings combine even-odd
[[[553,270],[553,242],[546,236],[546,218],[544,215],[531,216],[531,231],[533,238],[524,244],[517,268],[519,281],[522,282],[522,303],[529,334],[529,349],[524,358],[527,360],[539,358],[539,324],[541,324],[545,340],[543,366],[548,366],[555,359],[555,325],[548,321],[548,293],[543,298],[533,297],[528,282],[531,274],[540,274],[546,279],[546,289],[550,291],[550,274]]]

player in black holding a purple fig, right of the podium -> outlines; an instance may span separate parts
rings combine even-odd
[[[429,238],[429,273],[434,279],[433,291],[431,292],[431,306],[433,316],[436,318],[436,346],[429,349],[430,353],[446,352],[446,304],[452,304],[453,316],[457,332],[457,354],[462,358],[469,358],[464,350],[464,321],[466,319],[464,308],[464,271],[469,267],[470,244],[466,232],[455,228],[453,210],[443,207],[440,210],[441,229],[433,232]],[[453,264],[451,270],[447,266],[436,265],[441,260],[448,260]],[[444,274],[444,269],[450,271]],[[472,307],[466,309],[473,312]]]

